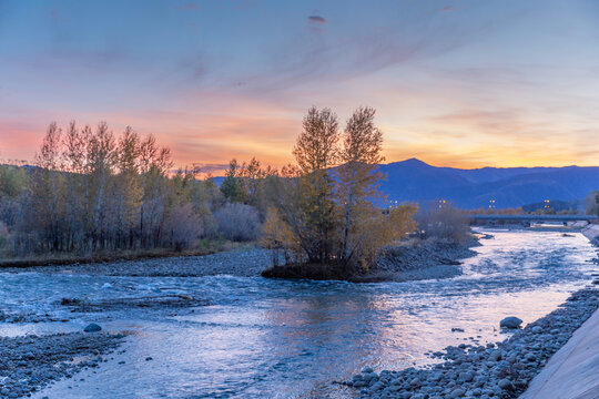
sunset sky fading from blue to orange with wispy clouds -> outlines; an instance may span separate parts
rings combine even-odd
[[[386,162],[599,165],[599,2],[0,0],[2,160],[75,120],[281,166],[312,105],[375,108]]]

